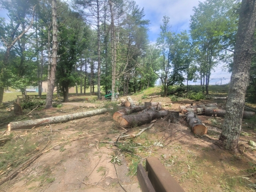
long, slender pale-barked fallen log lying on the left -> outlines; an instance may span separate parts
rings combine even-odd
[[[10,122],[10,124],[8,125],[8,131],[18,130],[18,129],[30,129],[32,127],[63,123],[63,122],[72,121],[74,119],[104,114],[106,112],[107,112],[107,109],[103,108],[103,109],[91,110],[91,111],[69,114],[69,115],[47,117],[47,118],[34,119],[34,120],[28,120],[28,121]]]

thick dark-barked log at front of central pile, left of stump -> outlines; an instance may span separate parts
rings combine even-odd
[[[135,115],[124,115],[118,118],[118,123],[122,127],[133,127],[139,126],[146,123],[150,123],[152,120],[161,118],[168,115],[168,110],[162,111],[144,111],[140,114]]]

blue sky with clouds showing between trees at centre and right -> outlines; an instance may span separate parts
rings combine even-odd
[[[170,18],[171,30],[174,32],[179,32],[182,30],[189,31],[190,15],[194,14],[193,7],[198,5],[198,0],[135,0],[136,3],[143,8],[145,12],[145,19],[150,20],[149,25],[149,41],[156,42],[158,34],[160,33],[160,25],[164,15]],[[204,2],[202,0],[201,2]],[[212,71],[210,78],[210,84],[215,82],[220,83],[220,78],[227,78],[222,80],[222,84],[228,83],[230,81],[230,73],[222,71],[222,65],[215,68]],[[214,79],[213,79],[214,78]],[[199,81],[198,81],[199,83]],[[190,84],[194,84],[190,82]]]

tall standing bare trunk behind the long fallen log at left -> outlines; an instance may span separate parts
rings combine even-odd
[[[46,104],[45,108],[52,108],[53,91],[55,87],[55,75],[57,66],[57,41],[58,24],[57,24],[57,7],[56,0],[52,0],[52,66],[50,75],[50,85],[49,90],[47,90]]]

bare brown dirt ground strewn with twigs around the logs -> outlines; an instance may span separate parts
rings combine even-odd
[[[150,100],[141,100],[141,95],[131,97],[142,104]],[[86,102],[79,97],[71,97],[70,100],[69,103],[63,103],[61,108],[35,111],[30,118],[93,110],[103,108],[108,103],[108,101]],[[218,102],[219,106],[224,103],[220,100],[172,102],[167,97],[154,98],[152,102],[170,103],[165,108],[171,110],[178,110],[179,105],[189,103]],[[203,115],[199,118],[207,126],[207,137],[194,135],[183,117],[176,124],[158,119],[150,130],[142,133],[138,138],[122,141],[122,145],[117,148],[108,143],[98,143],[98,141],[115,141],[118,135],[124,132],[113,121],[111,115],[109,112],[33,130],[15,131],[12,140],[0,145],[0,152],[7,150],[6,145],[20,141],[19,150],[26,150],[26,143],[35,145],[34,151],[28,154],[30,156],[41,151],[45,146],[55,147],[37,158],[13,179],[5,182],[0,189],[12,192],[124,191],[118,183],[119,179],[126,191],[141,191],[136,177],[137,165],[138,163],[145,165],[147,157],[155,156],[185,191],[255,191],[255,178],[241,177],[256,171],[256,152],[248,145],[249,140],[256,142],[255,124],[243,121],[244,132],[239,141],[242,154],[226,151],[215,145],[214,142],[221,133],[223,118]],[[138,133],[147,126],[149,125],[133,127],[129,133]],[[0,131],[6,129],[6,125],[2,125],[0,129]],[[79,137],[82,139],[71,141]],[[65,141],[69,142],[61,143]],[[13,149],[9,150],[8,152],[12,153]],[[122,165],[115,164],[116,170],[110,162],[114,157],[122,163]],[[18,161],[19,158],[17,156]],[[9,168],[11,171],[11,165]],[[0,181],[10,171],[0,170]]]

